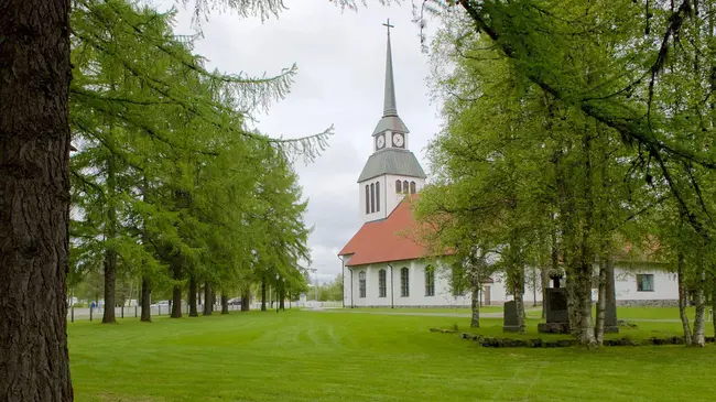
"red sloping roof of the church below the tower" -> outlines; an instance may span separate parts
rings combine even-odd
[[[414,239],[415,220],[412,204],[405,197],[383,220],[364,224],[338,256],[354,254],[346,265],[414,260],[427,254],[427,249]]]

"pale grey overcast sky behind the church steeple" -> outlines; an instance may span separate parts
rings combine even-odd
[[[357,178],[372,152],[371,133],[382,116],[386,28],[390,18],[398,112],[410,129],[410,149],[428,170],[424,148],[438,130],[438,106],[431,102],[427,55],[410,2],[390,8],[372,3],[358,12],[328,0],[284,0],[290,10],[276,20],[215,14],[203,23],[204,39],[195,52],[210,68],[225,73],[276,74],[299,66],[291,93],[258,128],[270,135],[301,137],[335,126],[330,145],[313,164],[299,162],[305,221],[319,281],[340,273],[338,251],[361,226]],[[165,2],[166,3],[166,2]],[[171,2],[169,2],[171,3]],[[191,14],[180,8],[177,33],[192,33]]]

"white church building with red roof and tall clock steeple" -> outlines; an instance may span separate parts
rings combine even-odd
[[[410,238],[414,226],[410,199],[425,185],[426,175],[410,150],[410,131],[398,116],[390,26],[386,61],[383,115],[372,131],[373,152],[358,176],[358,211],[364,225],[340,250],[344,306],[451,307],[469,306],[468,290],[453,289],[449,270],[426,259],[426,249]],[[627,262],[615,265],[615,293],[621,305],[675,305],[676,278],[663,265]],[[524,300],[541,301],[540,291]],[[596,293],[594,294],[596,298]],[[502,278],[482,284],[482,305],[511,300]]]

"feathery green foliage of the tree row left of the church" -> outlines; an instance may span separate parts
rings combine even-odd
[[[280,2],[227,6],[263,14]],[[194,37],[174,35],[175,13],[122,0],[73,10],[68,285],[116,264],[156,295],[189,276],[219,293],[274,274],[301,289],[310,229],[291,163],[313,160],[330,129],[296,140],[248,130],[295,67],[263,78],[209,72]]]

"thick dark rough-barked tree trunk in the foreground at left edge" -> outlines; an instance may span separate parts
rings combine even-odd
[[[68,0],[0,6],[0,401],[72,401]]]

